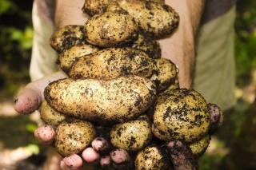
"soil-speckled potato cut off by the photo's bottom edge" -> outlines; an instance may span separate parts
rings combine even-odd
[[[138,152],[135,160],[136,170],[169,170],[170,160],[167,159],[166,153],[158,146],[146,147]]]

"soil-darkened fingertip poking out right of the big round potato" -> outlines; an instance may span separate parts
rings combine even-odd
[[[208,104],[208,108],[210,109],[210,133],[212,134],[217,132],[218,128],[221,127],[223,121],[223,113],[218,105]]]

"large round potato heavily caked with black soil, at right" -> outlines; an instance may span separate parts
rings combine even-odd
[[[154,127],[168,139],[194,142],[210,128],[210,111],[202,95],[193,89],[174,89],[154,107]],[[156,134],[156,133],[154,133]]]

